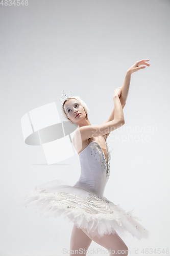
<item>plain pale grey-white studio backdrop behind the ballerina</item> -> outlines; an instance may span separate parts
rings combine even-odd
[[[104,196],[135,208],[151,232],[148,240],[123,239],[130,255],[134,249],[143,255],[143,248],[164,248],[161,255],[169,255],[169,13],[167,0],[0,6],[1,256],[65,255],[73,226],[15,204],[17,189],[55,179],[74,185],[80,176],[78,155],[47,165],[41,146],[25,144],[21,117],[51,102],[60,112],[65,90],[86,102],[92,124],[102,124],[113,109],[114,90],[140,59],[150,59],[151,66],[132,74],[125,125],[108,138],[113,151]],[[103,247],[92,242],[93,248]]]

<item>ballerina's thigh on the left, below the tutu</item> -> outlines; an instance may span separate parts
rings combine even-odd
[[[70,250],[78,250],[80,248],[87,250],[91,242],[92,240],[87,234],[81,228],[77,228],[74,224],[71,232]]]

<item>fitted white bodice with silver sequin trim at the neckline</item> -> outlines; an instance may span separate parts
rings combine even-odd
[[[102,147],[95,140],[91,141],[79,153],[81,174],[74,187],[80,187],[103,198],[104,189],[110,174],[110,152],[107,148],[107,160]]]

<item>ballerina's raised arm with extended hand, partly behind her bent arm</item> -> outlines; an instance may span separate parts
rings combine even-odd
[[[142,59],[142,60],[136,61],[136,63],[132,67],[130,67],[128,69],[128,71],[126,72],[125,80],[124,80],[123,86],[121,87],[121,95],[119,97],[123,109],[124,109],[124,106],[125,106],[127,98],[128,98],[131,75],[134,72],[145,68],[145,66],[139,67],[140,65],[147,65],[149,67],[150,64],[145,61],[149,61],[149,59]],[[114,119],[114,108],[111,112],[111,115],[109,116],[109,119],[106,122],[109,122],[113,119]]]

